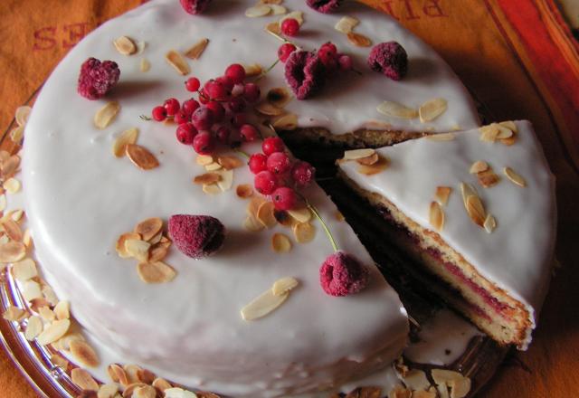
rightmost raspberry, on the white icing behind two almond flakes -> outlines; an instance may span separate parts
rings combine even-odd
[[[408,71],[408,55],[399,43],[376,44],[368,55],[368,66],[372,71],[382,72],[393,81],[399,81]]]

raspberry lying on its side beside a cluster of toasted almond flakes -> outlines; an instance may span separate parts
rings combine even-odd
[[[169,235],[179,251],[201,259],[222,247],[225,227],[209,215],[176,214],[169,218]]]

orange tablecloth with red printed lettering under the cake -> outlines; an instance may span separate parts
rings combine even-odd
[[[557,176],[557,258],[526,353],[508,360],[484,397],[579,396],[579,58],[551,0],[363,0],[392,14],[451,64],[493,119],[529,118]],[[49,4],[50,3],[50,4]],[[56,63],[102,21],[139,0],[0,2],[0,127]],[[289,3],[289,2],[287,2]],[[66,104],[62,104],[66,111]],[[521,365],[522,364],[522,365]],[[35,393],[0,354],[0,396]]]

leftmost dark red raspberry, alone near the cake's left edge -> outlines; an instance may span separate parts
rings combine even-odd
[[[82,63],[77,90],[86,99],[99,100],[117,85],[119,76],[117,62],[89,58]]]

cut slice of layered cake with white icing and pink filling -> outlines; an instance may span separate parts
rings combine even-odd
[[[526,349],[555,240],[554,178],[527,121],[346,152],[339,175],[384,217],[418,278]],[[412,264],[412,265],[411,265]]]

